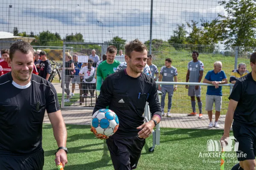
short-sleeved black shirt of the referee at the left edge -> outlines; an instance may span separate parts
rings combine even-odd
[[[11,72],[0,77],[0,155],[28,155],[42,148],[42,123],[47,113],[60,110],[56,90],[35,74],[20,86]]]

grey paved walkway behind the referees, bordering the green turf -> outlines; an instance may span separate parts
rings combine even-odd
[[[53,83],[57,93],[62,93],[60,83]],[[92,110],[62,110],[62,115],[66,124],[74,125],[90,125]],[[187,116],[186,114],[172,114],[170,117],[162,117],[160,127],[171,127],[171,128],[189,128],[189,129],[224,129],[225,115],[221,115],[219,118],[220,128],[209,128],[208,115],[203,115],[202,119],[198,119],[197,116]],[[212,117],[215,120],[215,116]],[[50,123],[47,113],[44,116],[44,123]]]

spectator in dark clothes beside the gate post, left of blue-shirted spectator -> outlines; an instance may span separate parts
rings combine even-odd
[[[67,94],[67,98],[64,100],[65,102],[70,102],[69,99],[72,98],[72,96],[70,95],[70,90],[69,90],[69,85],[70,85],[70,81],[71,78],[74,77],[74,75],[72,75],[71,73],[74,71],[75,66],[74,66],[74,62],[72,60],[72,56],[69,54],[69,52],[65,53],[65,87],[64,87],[64,91]],[[61,88],[62,84],[61,84]]]

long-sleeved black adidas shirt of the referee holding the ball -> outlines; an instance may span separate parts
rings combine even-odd
[[[138,136],[140,130],[136,128],[144,123],[142,114],[146,102],[150,106],[152,116],[157,114],[161,117],[161,106],[153,78],[144,73],[133,78],[124,69],[106,77],[93,113],[109,106],[119,119],[115,135]]]

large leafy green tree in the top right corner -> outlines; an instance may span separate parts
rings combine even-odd
[[[226,45],[255,46],[256,2],[255,0],[230,0],[219,2],[227,11],[227,16],[219,14],[227,27],[223,32]]]

